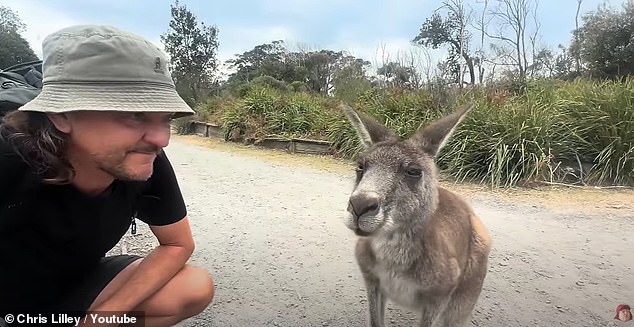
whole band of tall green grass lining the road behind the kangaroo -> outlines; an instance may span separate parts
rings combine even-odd
[[[425,90],[370,89],[349,104],[407,137],[459,103],[473,102],[475,109],[438,158],[442,172],[457,181],[494,187],[531,181],[634,185],[634,78],[535,81],[501,94],[492,99],[476,88],[439,108],[443,99]],[[361,147],[337,101],[252,85],[240,98],[210,100],[199,113],[221,121],[227,135],[239,130],[252,138],[324,139],[336,155],[351,158]]]

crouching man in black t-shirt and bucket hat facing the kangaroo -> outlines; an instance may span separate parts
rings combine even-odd
[[[143,311],[146,326],[171,326],[200,313],[214,285],[186,264],[194,241],[161,151],[171,119],[194,111],[167,58],[109,26],[69,27],[42,45],[41,93],[0,125],[0,317]],[[105,257],[133,217],[160,245]]]

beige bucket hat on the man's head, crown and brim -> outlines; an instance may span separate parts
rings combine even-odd
[[[42,52],[42,91],[18,110],[194,114],[176,92],[166,55],[138,35],[112,26],[71,26],[48,35]]]

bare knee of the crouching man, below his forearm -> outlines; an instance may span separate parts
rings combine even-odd
[[[186,265],[178,276],[182,283],[181,298],[186,315],[197,315],[213,300],[215,287],[209,272],[204,269]]]

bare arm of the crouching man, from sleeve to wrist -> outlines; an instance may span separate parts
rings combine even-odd
[[[170,225],[150,228],[159,246],[143,259],[123,287],[91,311],[132,311],[185,266],[195,246],[188,217]]]

